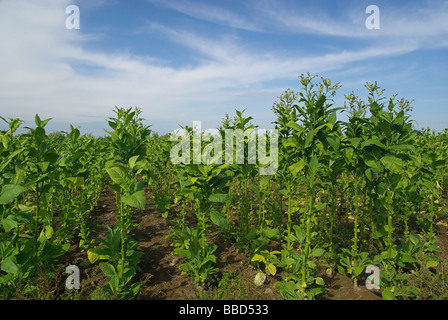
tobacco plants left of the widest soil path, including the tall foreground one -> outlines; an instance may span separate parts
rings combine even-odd
[[[23,121],[1,118],[8,130],[0,133],[0,298],[63,294],[65,258],[73,247],[99,263],[107,279],[92,297],[137,295],[142,253],[132,239],[132,214],[145,208],[141,172],[150,171],[144,159],[151,145],[140,112],[116,108],[104,138],[82,136],[73,126],[47,134],[51,119],[38,115],[34,127],[16,134]],[[117,224],[95,238],[90,213],[107,182],[116,194]]]

